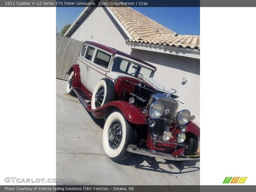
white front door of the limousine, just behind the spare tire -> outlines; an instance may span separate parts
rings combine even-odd
[[[90,71],[87,76],[87,89],[93,92],[96,84],[106,77],[109,71],[109,63],[112,57],[111,53],[97,49],[93,61],[90,65]]]

